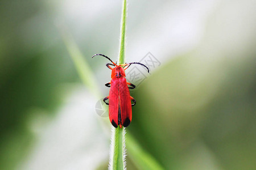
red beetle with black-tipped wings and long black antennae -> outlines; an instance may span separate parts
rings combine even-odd
[[[106,100],[109,99],[109,119],[112,125],[117,128],[118,125],[120,128],[129,126],[131,122],[131,107],[136,104],[136,100],[130,96],[129,88],[135,88],[134,84],[126,82],[125,78],[125,70],[131,64],[139,64],[147,68],[149,73],[149,69],[147,66],[143,65],[139,62],[131,62],[125,63],[122,65],[117,65],[114,63],[109,57],[103,54],[95,54],[94,56],[102,56],[108,58],[112,63],[107,63],[106,66],[112,70],[111,74],[111,82],[106,83],[106,87],[110,87],[109,96],[105,97],[103,101],[106,103]],[[94,57],[92,56],[92,58]],[[110,67],[110,65],[114,66],[114,68]],[[128,87],[131,86],[131,87]],[[133,104],[131,104],[131,100],[133,100]]]

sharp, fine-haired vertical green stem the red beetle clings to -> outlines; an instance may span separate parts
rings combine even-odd
[[[125,63],[125,31],[126,31],[126,0],[123,0],[121,33],[120,33],[120,50],[119,65]],[[110,169],[125,169],[125,128],[114,128],[112,139],[112,155],[110,158]]]

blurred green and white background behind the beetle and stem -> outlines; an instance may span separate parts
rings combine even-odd
[[[256,169],[256,2],[128,3],[126,62],[151,52],[161,65],[132,92],[127,133],[164,169]],[[95,107],[110,70],[90,57],[117,60],[121,7],[0,1],[0,169],[108,167]],[[138,162],[127,148],[127,168]]]

